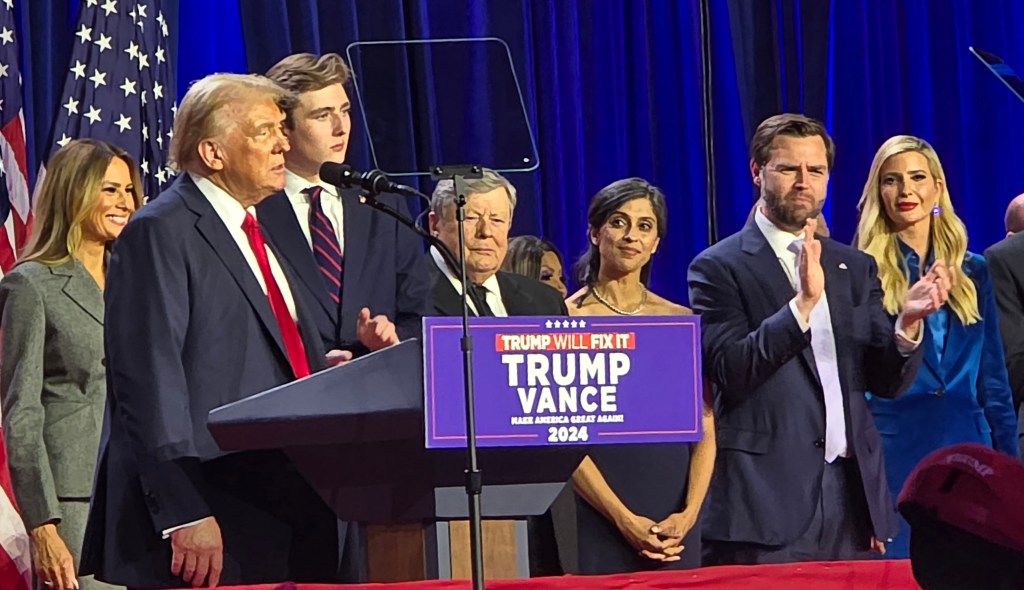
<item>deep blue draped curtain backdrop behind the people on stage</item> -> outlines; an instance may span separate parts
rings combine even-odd
[[[30,155],[38,161],[68,71],[78,2],[22,1]],[[179,93],[212,72],[263,72],[293,51],[344,53],[353,41],[495,36],[511,48],[541,167],[513,174],[513,231],[552,239],[572,259],[586,207],[606,183],[643,176],[669,198],[653,288],[685,302],[685,268],[708,245],[697,0],[176,0]],[[754,200],[748,143],[765,117],[826,122],[838,151],[826,216],[849,242],[876,149],[911,133],[939,152],[953,203],[981,251],[1024,193],[1024,103],[968,51],[1024,71],[1016,0],[709,0],[715,182],[721,236]],[[172,27],[172,29],[175,29]],[[400,81],[399,81],[400,82]],[[408,81],[396,95],[409,92]],[[446,108],[446,107],[441,107]],[[396,113],[406,125],[428,118]],[[45,153],[45,150],[42,151]],[[354,130],[352,160],[366,166]]]

